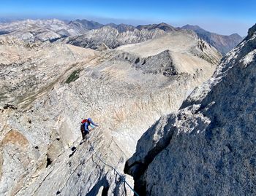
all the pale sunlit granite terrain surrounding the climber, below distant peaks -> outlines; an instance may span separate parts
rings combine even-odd
[[[132,195],[108,165],[123,170],[144,130],[214,72],[200,55],[217,50],[186,36],[179,50],[170,35],[144,53],[0,36],[0,195]],[[100,127],[80,144],[85,117]]]

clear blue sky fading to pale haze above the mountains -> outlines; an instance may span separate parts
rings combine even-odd
[[[246,35],[256,23],[256,1],[0,1],[5,18],[86,18],[100,23],[198,25],[219,34]]]

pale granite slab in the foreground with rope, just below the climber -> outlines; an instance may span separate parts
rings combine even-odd
[[[125,157],[113,140],[108,144],[105,141],[109,140],[102,136],[102,130],[95,130],[89,140],[61,153],[40,175],[34,173],[16,195],[132,195],[108,166],[118,169]],[[111,154],[118,156],[119,162]]]

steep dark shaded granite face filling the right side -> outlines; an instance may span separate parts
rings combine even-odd
[[[255,28],[140,138],[125,167],[140,195],[256,194]]]

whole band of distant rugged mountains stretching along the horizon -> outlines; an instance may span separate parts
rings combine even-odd
[[[122,44],[134,44],[146,41],[159,34],[167,34],[173,31],[182,30],[195,31],[200,39],[211,44],[222,55],[236,47],[241,42],[241,36],[232,34],[230,36],[222,36],[203,30],[199,26],[183,26],[182,28],[174,28],[167,23],[131,26],[126,24],[101,24],[89,20],[72,20],[69,22],[61,20],[20,20],[13,22],[0,23],[0,34],[11,34],[20,39],[37,42],[50,41],[67,42],[80,47],[89,47],[92,49],[106,49],[108,47],[118,47]],[[159,33],[161,31],[161,33]],[[124,34],[126,41],[124,40]],[[112,36],[112,38],[111,38]],[[115,44],[115,39],[122,39]],[[135,36],[135,37],[134,37]],[[67,38],[67,39],[64,39]],[[110,41],[110,39],[112,39]],[[107,42],[107,43],[105,43]],[[102,47],[102,45],[104,47]],[[105,47],[106,46],[106,47]]]

